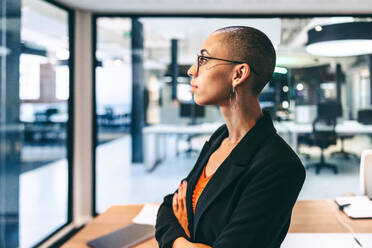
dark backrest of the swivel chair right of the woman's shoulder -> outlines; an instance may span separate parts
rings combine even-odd
[[[327,148],[336,144],[336,119],[318,117],[313,121],[313,141],[315,145]]]

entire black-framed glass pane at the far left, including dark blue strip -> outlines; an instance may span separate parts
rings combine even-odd
[[[32,247],[70,221],[69,13],[42,0],[1,10],[0,246]]]

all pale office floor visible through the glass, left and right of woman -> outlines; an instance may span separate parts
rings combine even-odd
[[[195,139],[194,147],[200,147],[205,137]],[[180,143],[179,149],[186,148]],[[111,205],[143,202],[161,202],[163,197],[176,190],[182,178],[192,169],[197,157],[170,157],[148,173],[142,164],[131,164],[131,139],[129,135],[99,145],[97,148],[97,212]],[[335,198],[348,193],[359,193],[359,161],[331,158],[332,151],[339,150],[340,143],[330,147],[326,160],[337,164],[339,173],[322,170],[316,175],[307,170],[307,177],[299,199]],[[372,147],[367,136],[357,136],[345,142],[345,149],[361,153]],[[311,155],[304,164],[318,161],[318,148],[301,147],[301,152]],[[115,158],[115,159],[113,159]],[[30,247],[66,221],[67,163],[65,160],[48,164],[22,173],[20,184],[20,237],[21,247]],[[45,190],[47,188],[48,190]],[[45,192],[45,193],[44,193]],[[43,204],[40,204],[40,203]],[[27,207],[26,207],[27,206]],[[47,218],[45,218],[47,214]]]

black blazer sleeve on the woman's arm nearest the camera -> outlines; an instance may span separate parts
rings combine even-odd
[[[305,171],[301,164],[275,168],[261,171],[247,184],[214,248],[280,247]]]

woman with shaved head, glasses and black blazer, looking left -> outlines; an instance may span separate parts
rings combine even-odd
[[[251,27],[222,28],[205,40],[188,71],[192,92],[197,104],[219,106],[226,124],[164,198],[161,248],[280,247],[305,171],[259,105],[275,59],[270,40]]]

